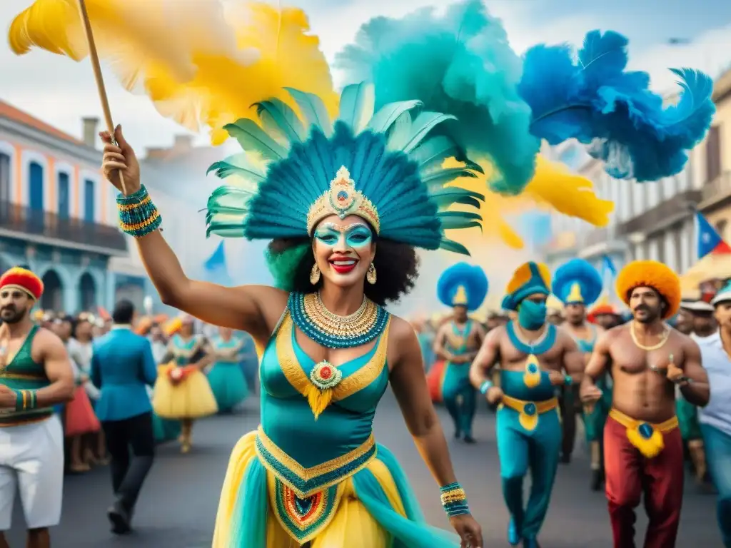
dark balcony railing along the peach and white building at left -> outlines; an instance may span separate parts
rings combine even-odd
[[[0,228],[61,242],[127,251],[126,239],[116,227],[89,223],[78,218],[59,217],[56,213],[34,210],[1,200]]]

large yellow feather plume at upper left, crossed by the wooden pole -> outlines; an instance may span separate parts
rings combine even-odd
[[[330,67],[301,9],[219,0],[86,0],[99,58],[129,91],[144,91],[159,112],[192,131],[252,118],[251,105],[282,88],[322,97],[335,114]],[[36,0],[9,31],[18,55],[39,47],[80,61],[88,55],[77,0]]]

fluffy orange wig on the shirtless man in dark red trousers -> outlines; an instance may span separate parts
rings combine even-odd
[[[681,308],[681,280],[667,265],[657,261],[633,261],[617,276],[617,295],[629,306],[629,296],[637,287],[651,287],[667,301],[662,319],[675,316]]]

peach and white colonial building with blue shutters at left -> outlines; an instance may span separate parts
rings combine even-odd
[[[31,268],[42,308],[67,313],[109,307],[110,259],[127,254],[94,148],[98,120],[82,123],[79,140],[0,102],[0,270]]]

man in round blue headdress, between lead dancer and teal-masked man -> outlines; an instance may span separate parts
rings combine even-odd
[[[485,330],[469,318],[488,294],[488,278],[480,267],[461,262],[447,268],[437,283],[442,304],[452,307],[452,321],[442,324],[434,338],[434,354],[444,359],[442,400],[455,425],[455,438],[474,444],[472,422],[477,392],[469,384],[469,365],[480,349]]]

